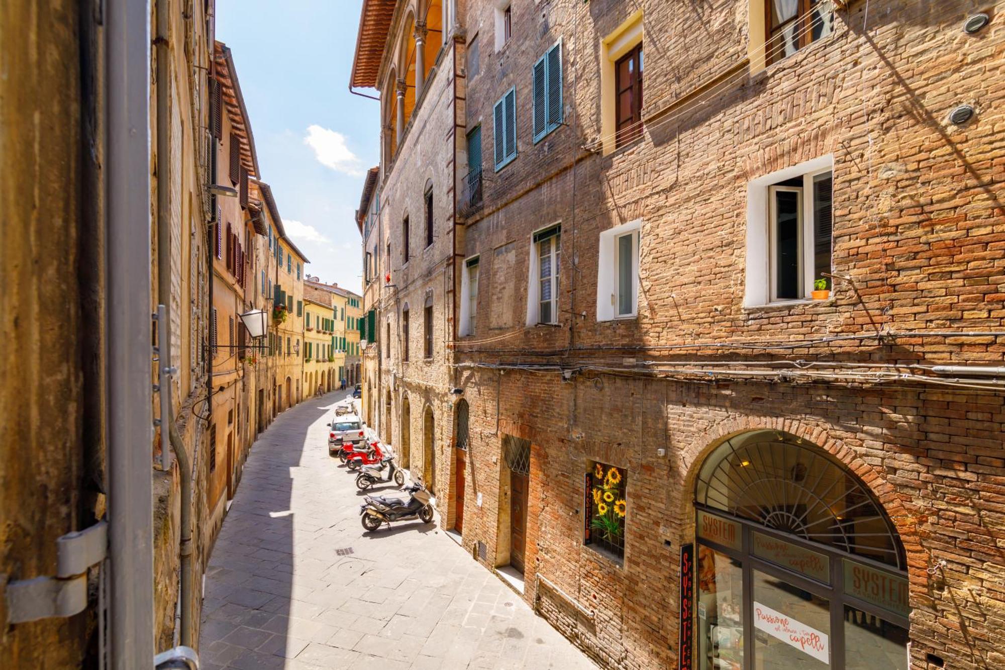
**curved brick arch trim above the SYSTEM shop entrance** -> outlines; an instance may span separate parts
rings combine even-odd
[[[883,511],[889,517],[900,543],[903,544],[908,565],[924,566],[928,564],[928,554],[923,550],[919,537],[918,521],[903,507],[893,486],[879,477],[872,466],[859,458],[853,450],[845,447],[836,438],[832,438],[825,429],[791,418],[768,416],[725,418],[687,445],[680,454],[680,466],[685,473],[682,487],[684,493],[679,500],[681,519],[689,519],[690,525],[693,525],[694,484],[706,458],[730,438],[751,431],[763,430],[780,431],[796,438],[802,438],[830,454],[837,462],[854,473],[863,486],[882,505]],[[914,570],[912,570],[912,576],[915,576]],[[918,584],[913,583],[912,585]]]

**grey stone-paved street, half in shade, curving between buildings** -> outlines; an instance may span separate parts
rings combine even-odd
[[[363,530],[362,493],[328,456],[340,397],[255,443],[207,570],[202,667],[595,667],[435,524]]]

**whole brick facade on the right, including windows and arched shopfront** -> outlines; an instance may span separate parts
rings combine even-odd
[[[1005,660],[1005,32],[869,4],[437,5],[420,76],[364,3],[382,437],[435,409],[441,525],[605,666]]]

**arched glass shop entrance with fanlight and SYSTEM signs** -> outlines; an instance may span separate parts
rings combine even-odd
[[[754,431],[713,451],[694,494],[697,668],[908,668],[903,545],[854,473]]]

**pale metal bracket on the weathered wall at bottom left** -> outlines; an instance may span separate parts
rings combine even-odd
[[[87,570],[108,554],[109,524],[66,533],[56,540],[56,575],[10,581],[3,588],[7,624],[72,617],[87,606]]]

